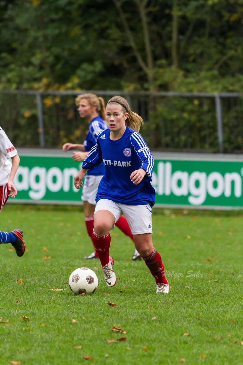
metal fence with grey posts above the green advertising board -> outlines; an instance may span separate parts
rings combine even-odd
[[[82,93],[124,96],[144,119],[140,132],[150,149],[242,153],[243,95],[124,91],[0,91],[0,125],[19,147],[81,143],[88,124],[74,98]]]

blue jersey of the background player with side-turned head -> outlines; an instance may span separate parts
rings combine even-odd
[[[85,151],[90,151],[91,148],[96,145],[97,135],[107,128],[108,128],[107,124],[101,118],[101,116],[98,115],[91,120],[89,124],[89,132],[87,133],[85,141],[83,142],[83,145],[85,146]],[[101,162],[101,164],[99,164],[98,166],[95,166],[94,168],[90,169],[87,172],[87,175],[97,176],[97,175],[103,175],[104,173],[105,173],[105,166],[103,162]]]

